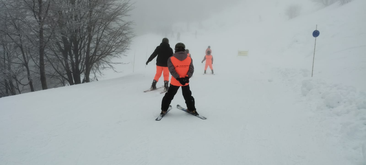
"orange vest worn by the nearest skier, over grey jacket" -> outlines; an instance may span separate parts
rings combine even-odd
[[[183,61],[177,59],[175,56],[171,56],[170,60],[172,61],[175,72],[177,72],[179,74],[180,78],[188,76],[187,73],[189,70],[189,65],[191,64],[191,61],[192,61],[192,59],[189,56],[186,59],[184,59]],[[179,81],[177,79],[175,79],[173,76],[170,80],[170,84],[175,85],[175,86],[188,85],[188,83],[186,83],[185,85],[180,84]]]

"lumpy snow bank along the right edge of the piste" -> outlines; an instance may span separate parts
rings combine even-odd
[[[284,81],[298,90],[309,111],[322,126],[331,126],[325,135],[340,142],[341,153],[355,164],[366,163],[366,92],[342,84],[329,84],[306,76],[308,70],[278,69]]]

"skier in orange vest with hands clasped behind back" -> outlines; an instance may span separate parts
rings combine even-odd
[[[184,100],[186,100],[187,111],[193,114],[198,114],[194,105],[194,98],[188,84],[189,78],[192,77],[194,72],[193,62],[190,56],[187,56],[187,52],[185,52],[185,50],[186,46],[183,43],[177,43],[175,45],[175,53],[168,59],[168,69],[172,78],[168,92],[165,93],[165,96],[161,101],[160,115],[165,115],[165,113],[167,113],[169,105],[175,94],[178,92],[179,87],[182,87],[182,94]]]

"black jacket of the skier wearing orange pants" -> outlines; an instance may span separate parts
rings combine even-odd
[[[173,55],[173,49],[170,47],[168,43],[161,43],[160,46],[157,46],[153,54],[147,60],[148,62],[152,61],[156,56],[156,65],[168,67],[168,59]]]

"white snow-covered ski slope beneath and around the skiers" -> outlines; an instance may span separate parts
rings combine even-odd
[[[354,0],[306,8],[291,20],[227,20],[197,39],[182,34],[196,108],[207,120],[175,108],[185,107],[179,90],[173,109],[155,121],[164,94],[142,91],[156,69],[145,66],[146,55],[162,37],[138,36],[120,59],[130,63],[116,66],[122,73],[1,98],[0,164],[365,165],[365,6]],[[202,75],[208,45],[216,75]]]

